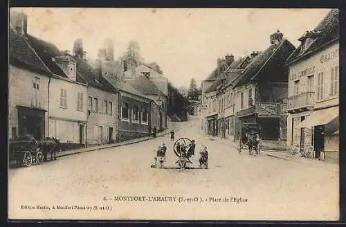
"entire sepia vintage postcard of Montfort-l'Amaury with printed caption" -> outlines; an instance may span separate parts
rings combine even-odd
[[[8,219],[339,219],[339,11],[10,8]]]

